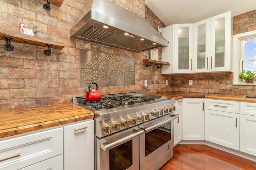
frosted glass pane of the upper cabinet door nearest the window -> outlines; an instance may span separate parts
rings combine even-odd
[[[215,21],[215,67],[224,67],[225,18]]]

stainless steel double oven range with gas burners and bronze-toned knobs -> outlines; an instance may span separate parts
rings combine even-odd
[[[174,99],[132,92],[73,102],[95,114],[95,169],[156,170],[172,158]]]

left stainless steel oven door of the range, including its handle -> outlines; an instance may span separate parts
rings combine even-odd
[[[138,170],[139,135],[144,130],[138,126],[105,138],[96,138],[97,170]]]

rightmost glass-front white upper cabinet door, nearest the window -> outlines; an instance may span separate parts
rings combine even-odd
[[[210,18],[210,71],[231,71],[231,12]]]

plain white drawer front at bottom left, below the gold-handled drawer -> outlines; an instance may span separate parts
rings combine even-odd
[[[63,154],[27,166],[20,170],[63,170]]]

